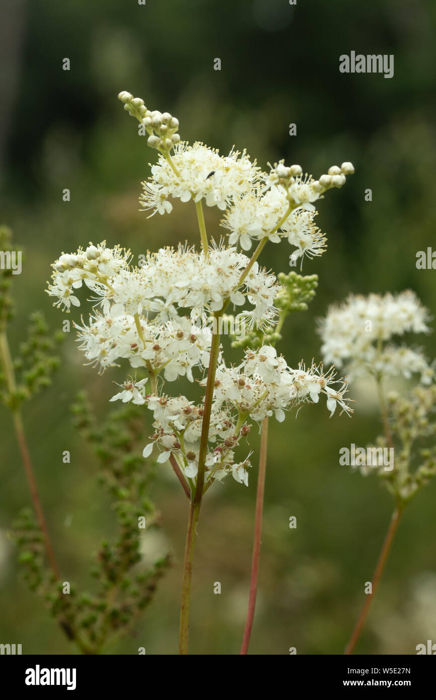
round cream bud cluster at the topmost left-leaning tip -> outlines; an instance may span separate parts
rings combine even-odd
[[[148,146],[157,148],[158,151],[169,151],[173,146],[180,143],[178,131],[178,119],[169,112],[160,112],[155,109],[151,112],[146,108],[143,99],[133,97],[130,92],[120,92],[118,99],[124,104],[132,117],[136,117],[139,123],[143,124],[148,136]]]

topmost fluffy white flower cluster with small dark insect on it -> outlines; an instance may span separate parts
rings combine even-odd
[[[169,197],[181,202],[203,200],[207,207],[226,209],[235,197],[253,189],[260,181],[260,168],[244,151],[223,156],[215,148],[182,141],[174,148],[171,162],[160,155],[151,166],[151,177],[142,183],[140,204],[152,214],[172,210]]]

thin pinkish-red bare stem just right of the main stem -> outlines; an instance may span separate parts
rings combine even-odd
[[[251,584],[250,596],[248,598],[247,619],[242,640],[241,654],[248,652],[250,643],[251,628],[253,626],[254,611],[256,605],[256,594],[258,592],[258,570],[260,559],[260,544],[262,538],[262,512],[263,499],[265,493],[265,475],[267,471],[267,444],[268,444],[268,416],[262,421],[262,432],[260,434],[260,456],[258,474],[258,492],[256,495],[256,512],[254,524],[253,559],[251,561]]]

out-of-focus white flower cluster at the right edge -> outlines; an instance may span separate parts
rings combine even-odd
[[[321,320],[322,352],[325,362],[346,365],[349,377],[365,374],[421,374],[423,384],[431,384],[434,370],[419,350],[396,346],[396,335],[429,332],[428,310],[410,290],[384,296],[350,295],[329,308]]]

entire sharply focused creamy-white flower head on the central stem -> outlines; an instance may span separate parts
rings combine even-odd
[[[148,110],[129,92],[118,97],[148,133],[148,145],[159,151],[151,176],[143,183],[141,206],[153,216],[171,212],[173,199],[195,202],[202,251],[181,245],[160,248],[135,267],[130,251],[108,248],[106,241],[98,246],[90,243],[85,251],[62,253],[55,261],[48,294],[55,297],[55,306],[70,311],[71,306],[80,306],[76,290],[83,285],[89,289],[97,310],[89,323],[76,325],[88,362],[104,370],[127,360],[150,377],[150,393],[146,393],[148,379],[135,377],[111,398],[153,412],[155,433],[143,451],[145,457],[156,445],[157,461],[171,461],[191,493],[197,474],[203,493],[211,482],[229,474],[248,485],[250,454],[244,461],[235,457],[250,432],[247,421],[260,423],[272,415],[283,421],[286,411],[302,402],[316,403],[321,394],[330,416],[337,405],[350,414],[347,387],[335,380],[332,367],[328,372],[322,365],[288,367],[265,340],[260,349],[246,350],[239,366],[227,367],[220,351],[221,331],[212,333],[208,321],[217,321],[219,327],[227,306],[233,304],[239,309],[240,329],[271,331],[278,314],[274,300],[283,287],[274,274],[259,267],[261,248],[248,258],[237,245],[247,251],[253,240],[279,242],[286,237],[295,247],[294,260],[321,255],[326,239],[314,223],[314,202],[329,188],[341,187],[353,166],[332,167],[317,181],[303,175],[299,165],[288,168],[283,161],[266,174],[246,151],[232,149],[223,156],[199,142],[190,146],[180,141],[178,120],[170,113]],[[226,212],[222,223],[230,229],[228,247],[207,240],[202,200]],[[195,325],[197,321],[202,328]],[[186,377],[193,382],[196,369],[199,385],[208,387],[203,405],[184,395],[170,396],[162,388],[162,378]],[[202,451],[200,460],[205,439],[206,458]]]

